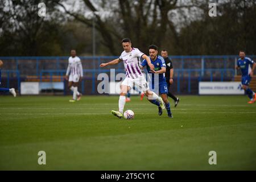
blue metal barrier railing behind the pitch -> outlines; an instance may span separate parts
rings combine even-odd
[[[108,73],[110,69],[100,68],[101,63],[106,63],[112,59],[116,59],[118,56],[79,56],[82,60],[84,73],[87,74],[84,80],[82,80],[82,93],[85,92],[84,84],[85,80],[92,81],[92,94],[96,94],[96,81],[97,75],[100,73]],[[248,56],[251,59],[256,59],[256,56]],[[176,79],[177,93],[181,93],[181,79],[185,79],[188,82],[187,93],[191,93],[191,81],[197,79],[201,81],[203,78],[207,78],[209,81],[227,80],[226,78],[232,78],[237,75],[236,61],[237,55],[224,55],[224,56],[170,56],[173,60],[174,73]],[[68,64],[68,56],[42,56],[42,57],[0,57],[4,61],[4,68],[2,73],[6,73],[7,86],[10,85],[10,73],[16,73],[16,79],[18,79],[17,88],[20,90],[20,79],[27,76],[36,76],[42,81],[44,75],[50,77],[52,81],[53,76],[61,76],[61,81],[64,81],[64,75]],[[28,64],[31,63],[31,64]],[[48,69],[50,68],[50,69]],[[118,64],[110,68],[115,68],[116,73],[124,73],[123,64]],[[84,75],[85,75],[84,74]],[[89,75],[89,76],[88,76]]]

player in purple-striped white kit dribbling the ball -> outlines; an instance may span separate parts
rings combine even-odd
[[[138,86],[139,89],[142,90],[148,97],[148,100],[157,100],[160,103],[160,107],[162,109],[165,108],[164,102],[161,97],[152,92],[148,85],[146,78],[141,72],[141,68],[139,67],[139,59],[142,57],[147,61],[147,64],[151,69],[154,69],[154,65],[151,64],[150,58],[139,51],[137,48],[131,47],[131,40],[129,38],[124,38],[122,40],[122,46],[124,51],[118,59],[110,61],[109,63],[102,63],[100,67],[106,67],[108,65],[115,65],[123,61],[125,65],[126,78],[123,80],[121,84],[121,92],[119,96],[119,111],[112,110],[112,114],[118,118],[123,117],[123,108],[125,107],[125,96],[133,85]]]

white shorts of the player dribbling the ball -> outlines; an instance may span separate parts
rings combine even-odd
[[[121,85],[130,86],[130,88],[136,86],[137,88],[139,88],[140,91],[142,90],[142,92],[146,92],[146,90],[149,90],[146,78],[144,76],[140,76],[138,78],[126,77]]]

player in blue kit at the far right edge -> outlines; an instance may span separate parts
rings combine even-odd
[[[256,101],[255,93],[249,88],[251,78],[253,77],[253,72],[256,67],[256,63],[251,60],[249,57],[245,57],[245,51],[239,52],[240,59],[237,60],[236,69],[241,69],[242,72],[242,88],[245,90],[245,93],[250,98],[248,104],[253,104]],[[251,68],[251,65],[253,68]]]

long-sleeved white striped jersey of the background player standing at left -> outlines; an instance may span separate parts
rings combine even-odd
[[[84,76],[82,72],[82,63],[79,57],[69,57],[68,59],[68,69],[66,75],[80,75]]]

